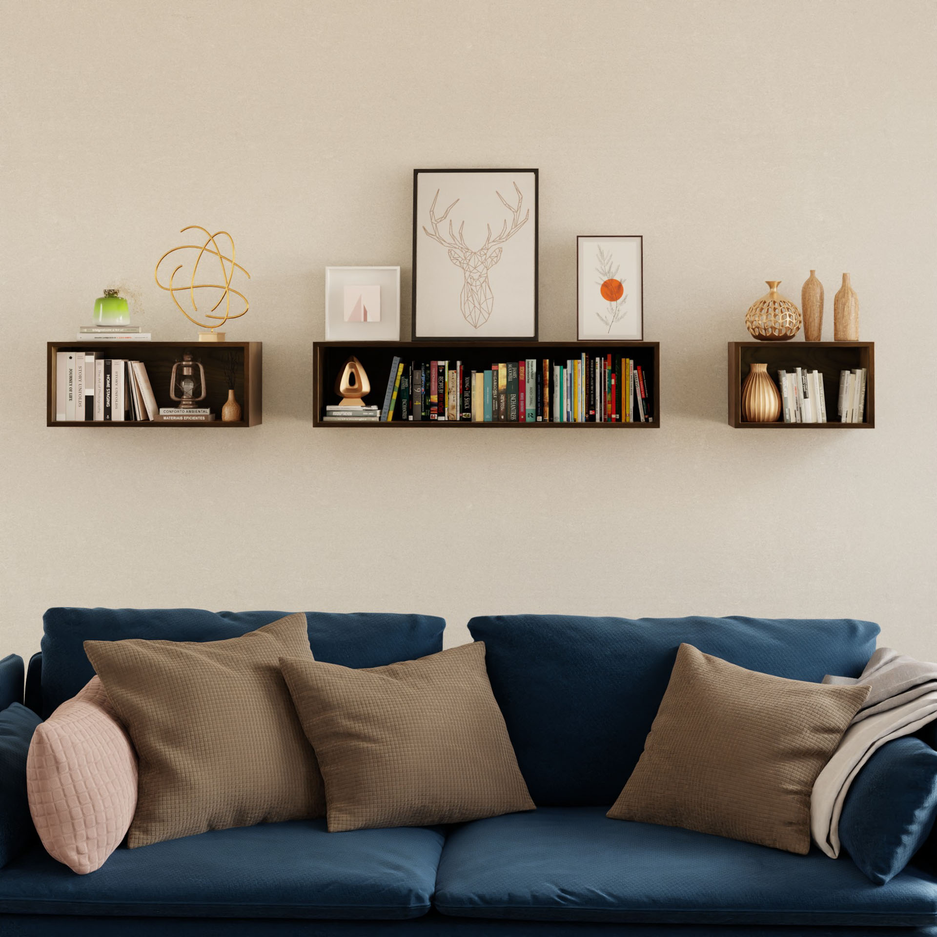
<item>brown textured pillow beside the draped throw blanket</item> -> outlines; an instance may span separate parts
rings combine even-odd
[[[813,781],[868,694],[680,645],[644,753],[608,816],[807,853]]]

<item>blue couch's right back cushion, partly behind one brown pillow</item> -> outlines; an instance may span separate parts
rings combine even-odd
[[[538,806],[610,804],[661,705],[677,648],[777,677],[857,677],[878,625],[852,619],[477,617],[488,677]]]

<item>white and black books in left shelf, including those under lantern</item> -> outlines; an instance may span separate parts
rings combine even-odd
[[[215,419],[215,414],[209,409],[157,407],[146,365],[140,361],[105,358],[94,351],[57,351],[55,419],[78,423],[207,423]]]

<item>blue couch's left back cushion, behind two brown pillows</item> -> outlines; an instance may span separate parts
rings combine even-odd
[[[42,715],[95,676],[85,641],[161,638],[220,641],[255,631],[288,612],[206,612],[199,608],[51,608],[42,617]],[[306,612],[316,660],[381,667],[442,650],[445,621],[429,615]]]

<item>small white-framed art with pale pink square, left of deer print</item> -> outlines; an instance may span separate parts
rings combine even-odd
[[[325,339],[400,341],[400,268],[326,267]]]

